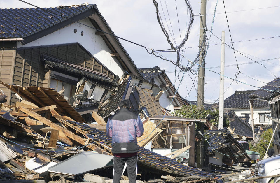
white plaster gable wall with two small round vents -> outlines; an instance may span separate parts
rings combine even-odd
[[[88,18],[78,21],[80,23],[93,27]],[[74,33],[77,29],[77,33]],[[83,36],[81,32],[83,31]],[[124,69],[114,57],[111,57],[111,50],[103,41],[100,35],[95,35],[96,30],[79,23],[73,23],[67,27],[57,30],[47,36],[39,38],[35,41],[21,45],[17,43],[17,47],[34,47],[34,46],[48,46],[56,44],[80,43],[88,52],[97,58],[104,66],[111,70],[120,78],[124,73]]]

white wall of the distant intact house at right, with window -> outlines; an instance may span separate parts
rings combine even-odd
[[[263,113],[269,113],[270,115],[270,110],[267,109],[254,109],[254,124],[260,124],[260,119],[259,119],[259,114],[263,114]],[[250,109],[248,110],[233,110],[235,112],[235,114],[237,116],[244,116],[244,114],[250,114]],[[250,119],[249,119],[249,124],[251,124],[251,115],[250,115]],[[269,120],[269,122],[263,122],[263,125],[272,125],[272,121]]]

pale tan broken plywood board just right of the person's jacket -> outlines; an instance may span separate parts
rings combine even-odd
[[[156,124],[151,122],[150,120],[146,120],[145,123],[143,123],[144,127],[144,133],[141,137],[137,138],[138,145],[141,147],[144,147],[147,145],[150,141],[153,140],[157,135],[159,135],[162,132],[162,129],[156,128]]]

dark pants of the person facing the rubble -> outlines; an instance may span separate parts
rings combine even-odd
[[[126,158],[118,158],[114,156],[114,176],[113,183],[119,183],[122,177],[123,168],[127,165],[127,174],[129,183],[136,182],[136,166],[137,166],[137,155]]]

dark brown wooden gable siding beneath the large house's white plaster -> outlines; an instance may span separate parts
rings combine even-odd
[[[12,84],[20,86],[50,87],[50,71],[46,70],[44,64],[40,61],[41,54],[46,54],[71,64],[76,64],[93,71],[104,73],[113,79],[113,73],[108,71],[106,67],[102,66],[102,64],[93,58],[83,47],[75,43],[70,45],[56,45],[17,50]],[[6,57],[4,57],[4,59],[6,59]],[[10,71],[11,64],[8,67],[3,65],[3,68],[6,69],[2,69],[3,72],[7,73]],[[6,80],[11,78],[10,74],[5,77]],[[18,99],[15,97],[15,94],[12,94],[11,103],[13,104],[16,101],[18,101]]]

